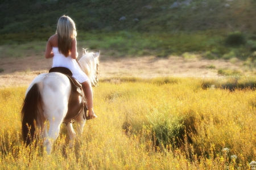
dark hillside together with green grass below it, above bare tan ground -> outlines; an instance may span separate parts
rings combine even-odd
[[[189,52],[207,59],[255,58],[253,0],[0,3],[0,45],[46,42],[55,33],[60,16],[68,15],[76,23],[80,44],[109,56],[168,57]]]

